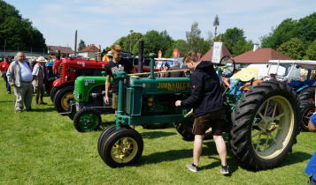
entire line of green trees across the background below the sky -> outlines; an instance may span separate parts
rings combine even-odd
[[[243,29],[238,27],[228,28],[225,33],[217,33],[220,18],[216,16],[213,21],[215,28],[207,33],[207,38],[201,36],[198,23],[192,23],[190,30],[185,32],[186,39],[173,40],[166,30],[158,32],[150,30],[147,33],[130,31],[126,36],[120,37],[113,44],[119,44],[125,51],[138,55],[138,41],[145,42],[144,52],[162,51],[164,57],[173,55],[173,48],[181,52],[181,56],[192,50],[203,55],[212,48],[214,41],[223,41],[232,55],[240,55],[253,47],[253,41],[247,40]],[[279,26],[260,38],[261,48],[274,48],[294,59],[316,60],[316,12],[300,19],[286,18]],[[2,49],[42,51],[46,49],[42,33],[32,26],[28,18],[22,18],[14,6],[0,0],[0,46]],[[79,49],[85,47],[84,41],[79,44]],[[109,49],[108,46],[105,49]]]

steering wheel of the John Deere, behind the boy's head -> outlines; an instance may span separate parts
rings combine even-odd
[[[231,78],[235,73],[235,60],[229,55],[224,55],[220,58],[220,63],[217,65],[220,68],[220,76]]]

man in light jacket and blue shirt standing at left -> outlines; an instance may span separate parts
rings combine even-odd
[[[17,97],[14,106],[15,112],[20,113],[23,109],[23,104],[27,111],[31,111],[33,77],[32,70],[23,52],[18,52],[16,60],[9,66],[6,77],[8,78],[9,84],[14,86],[15,89],[14,94]]]

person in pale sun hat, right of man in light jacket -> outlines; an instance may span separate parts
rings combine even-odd
[[[36,100],[36,106],[42,106],[47,105],[47,103],[42,101],[42,97],[44,95],[44,79],[45,79],[45,63],[47,63],[47,60],[40,56],[36,59],[36,64],[33,68],[33,87],[35,89],[35,100]]]

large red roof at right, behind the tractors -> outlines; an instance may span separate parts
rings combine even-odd
[[[246,67],[249,64],[258,63],[266,64],[269,60],[293,60],[288,55],[281,54],[273,48],[257,48],[247,51],[241,55],[234,57],[235,63],[240,63],[241,67]]]

